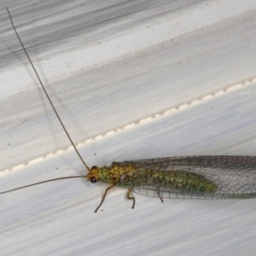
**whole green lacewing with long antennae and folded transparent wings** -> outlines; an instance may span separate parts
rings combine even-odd
[[[10,14],[9,17],[15,29]],[[19,38],[17,32],[16,35]],[[31,62],[34,72],[38,76],[21,41],[20,44],[24,49],[28,60]],[[38,80],[44,89],[44,84],[39,77]],[[61,122],[45,89],[44,92],[48,97],[57,118]],[[255,156],[170,157],[152,160],[113,162],[111,166],[92,166],[90,168],[85,164],[62,122],[61,125],[88,173],[85,176],[60,177],[40,183],[75,177],[86,177],[91,183],[96,183],[97,181],[109,183],[110,186],[105,190],[105,193],[102,196],[102,201],[99,206],[96,207],[95,212],[102,206],[108,191],[115,186],[128,189],[127,199],[132,201],[131,208],[135,207],[135,197],[131,196],[132,192],[159,197],[160,201],[163,201],[163,198],[246,199],[256,197]],[[23,189],[37,184],[39,183],[33,183],[17,189]],[[17,189],[4,191],[0,194]]]

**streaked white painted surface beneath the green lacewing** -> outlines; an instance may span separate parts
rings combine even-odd
[[[2,1],[1,191],[86,173],[72,149],[42,159],[69,143],[15,38],[7,3],[70,135],[96,137],[79,147],[90,166],[256,155],[255,1]],[[5,172],[10,166],[18,167]],[[131,210],[125,189],[114,189],[94,213],[104,189],[81,179],[1,195],[1,255],[255,251],[253,199],[160,204],[137,195]]]

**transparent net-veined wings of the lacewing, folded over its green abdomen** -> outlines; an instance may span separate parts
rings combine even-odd
[[[131,160],[136,175],[120,182],[137,194],[185,199],[256,197],[255,156],[187,156]]]

